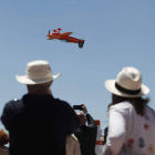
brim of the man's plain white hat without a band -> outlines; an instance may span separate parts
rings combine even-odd
[[[27,76],[16,75],[16,79],[18,82],[20,82],[22,84],[41,84],[41,83],[46,83],[46,82],[53,81],[56,78],[59,78],[60,75],[61,75],[61,73],[59,73],[56,75],[52,75],[49,79],[42,79],[42,80],[32,80]]]

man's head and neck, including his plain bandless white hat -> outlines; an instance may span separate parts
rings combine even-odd
[[[52,75],[52,70],[48,61],[39,60],[27,64],[25,75],[17,75],[17,81],[27,84],[29,93],[46,94],[54,79],[59,78],[60,73]]]

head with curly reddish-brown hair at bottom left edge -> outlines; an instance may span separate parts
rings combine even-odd
[[[0,146],[4,146],[9,143],[9,135],[4,132],[4,130],[0,130]]]

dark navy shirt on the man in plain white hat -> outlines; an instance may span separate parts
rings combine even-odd
[[[10,155],[65,155],[65,137],[79,126],[73,108],[50,94],[8,102],[1,122],[9,131]]]

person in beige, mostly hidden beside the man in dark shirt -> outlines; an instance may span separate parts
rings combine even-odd
[[[80,143],[74,134],[66,137],[66,155],[81,155]]]

